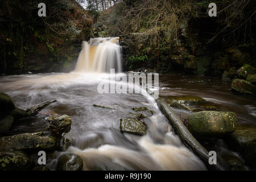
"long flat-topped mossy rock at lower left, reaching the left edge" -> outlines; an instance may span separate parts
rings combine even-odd
[[[0,150],[53,150],[55,145],[56,138],[42,132],[0,137]]]

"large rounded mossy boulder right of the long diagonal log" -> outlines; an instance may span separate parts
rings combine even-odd
[[[199,138],[218,138],[236,131],[237,115],[223,111],[201,111],[188,117],[188,130]]]

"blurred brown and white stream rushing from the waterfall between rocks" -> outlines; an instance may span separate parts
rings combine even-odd
[[[88,51],[88,46],[88,43],[84,43],[84,51]],[[101,47],[108,52],[104,45]],[[116,46],[115,50],[118,50]],[[93,52],[97,52],[97,48]],[[90,64],[93,59],[88,57],[82,63],[82,56],[81,52],[78,64],[93,65]],[[110,57],[113,56],[114,54],[110,54]],[[119,63],[119,58],[117,60],[117,62],[110,61],[109,63],[106,60],[101,64],[109,64],[108,68],[118,67],[119,72],[120,64],[116,64]],[[72,140],[72,146],[68,148],[68,151],[82,157],[85,170],[206,169],[203,162],[174,134],[166,118],[160,113],[154,98],[147,93],[100,94],[97,92],[98,83],[108,82],[108,77],[111,75],[96,73],[101,72],[102,67],[92,66],[86,69],[95,72],[81,72],[81,69],[77,67],[76,71],[71,73],[2,76],[0,91],[9,94],[15,105],[21,109],[47,100],[57,100],[43,109],[41,111],[43,114],[16,123],[9,135],[45,131],[48,114],[68,114],[72,118],[72,129],[65,135]],[[256,124],[256,103],[252,102],[250,97],[232,94],[228,84],[215,78],[201,76],[170,74],[160,75],[159,78],[160,96],[200,96],[227,110],[235,111],[240,124]],[[119,81],[115,84],[126,83]],[[135,113],[131,109],[133,107],[147,107],[154,113],[144,119],[148,130],[143,137],[119,131],[120,118],[126,118],[129,114]],[[49,168],[55,169],[59,153],[55,152],[55,155],[49,159],[47,163]]]

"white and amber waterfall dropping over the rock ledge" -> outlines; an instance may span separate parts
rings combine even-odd
[[[76,72],[122,72],[122,49],[119,38],[91,38],[82,42]]]

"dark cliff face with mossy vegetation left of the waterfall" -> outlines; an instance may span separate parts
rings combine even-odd
[[[92,19],[75,0],[4,0],[0,5],[0,73],[68,72],[82,40],[92,36]]]

